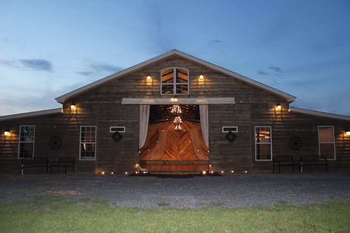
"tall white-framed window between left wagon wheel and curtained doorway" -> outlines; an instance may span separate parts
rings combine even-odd
[[[80,126],[80,159],[96,158],[96,126]]]

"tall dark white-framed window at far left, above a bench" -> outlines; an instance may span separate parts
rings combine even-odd
[[[34,156],[34,125],[19,126],[18,159]]]

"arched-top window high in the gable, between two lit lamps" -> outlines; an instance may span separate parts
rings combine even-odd
[[[175,78],[174,78],[175,74]],[[161,70],[161,94],[188,94],[189,70],[166,68]]]

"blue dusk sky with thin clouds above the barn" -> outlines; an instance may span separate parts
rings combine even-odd
[[[0,0],[0,116],[176,49],[350,116],[350,0]]]

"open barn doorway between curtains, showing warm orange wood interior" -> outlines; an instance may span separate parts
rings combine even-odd
[[[149,171],[203,171],[209,149],[202,134],[198,105],[180,105],[182,129],[175,131],[170,105],[150,106],[146,142],[140,164]]]

